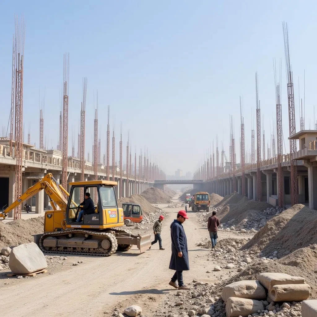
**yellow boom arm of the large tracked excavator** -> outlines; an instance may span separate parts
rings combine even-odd
[[[63,196],[62,192],[65,192],[67,196],[69,196],[69,194],[60,184],[57,184],[57,182],[53,178],[53,175],[49,173],[45,175],[43,178],[41,178],[36,184],[29,187],[29,189],[25,193],[23,193],[8,208],[6,208],[2,213],[0,213],[0,217],[4,219],[8,216],[9,211],[13,210],[18,205],[22,204],[23,201],[34,196],[42,189],[44,189],[46,194],[49,196],[50,203],[54,210],[56,210],[56,207],[54,205],[55,203],[61,210],[66,211],[67,200]]]

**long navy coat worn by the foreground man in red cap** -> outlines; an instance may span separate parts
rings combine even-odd
[[[183,225],[176,219],[171,223],[171,242],[172,255],[169,268],[175,271],[188,271],[187,239]],[[183,256],[179,257],[178,252],[182,252]]]

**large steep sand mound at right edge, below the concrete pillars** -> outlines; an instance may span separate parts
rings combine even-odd
[[[271,255],[293,252],[317,243],[317,213],[302,204],[283,211],[266,225],[244,246]]]

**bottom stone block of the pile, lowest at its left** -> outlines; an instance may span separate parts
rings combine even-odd
[[[226,303],[227,317],[239,317],[256,314],[258,310],[264,310],[262,301],[254,299],[229,297]]]

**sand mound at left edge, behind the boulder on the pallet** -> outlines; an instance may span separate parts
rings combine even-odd
[[[0,248],[15,247],[34,242],[33,236],[44,230],[44,217],[18,219],[8,223],[0,221]]]

